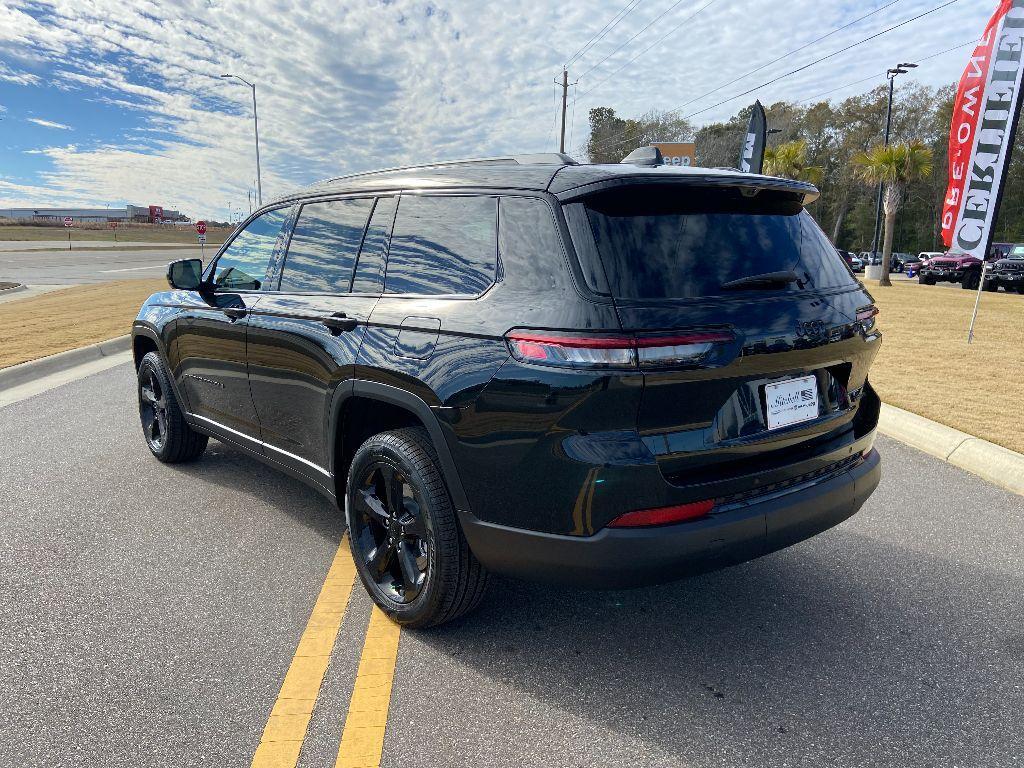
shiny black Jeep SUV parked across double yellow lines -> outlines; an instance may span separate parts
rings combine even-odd
[[[877,310],[816,195],[564,156],[316,184],[143,305],[150,450],[213,436],[343,502],[413,627],[488,571],[618,588],[794,544],[880,476]]]

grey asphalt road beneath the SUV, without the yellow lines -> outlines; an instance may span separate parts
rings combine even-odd
[[[495,580],[402,632],[382,766],[1024,764],[1024,499],[881,438],[855,517],[667,587]],[[211,442],[153,460],[130,367],[0,409],[0,765],[247,766],[342,535]],[[299,765],[333,766],[356,585]]]

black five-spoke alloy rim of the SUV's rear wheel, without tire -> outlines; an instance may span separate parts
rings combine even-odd
[[[351,499],[350,536],[367,573],[388,600],[413,602],[423,591],[431,559],[422,499],[387,461],[362,469]]]

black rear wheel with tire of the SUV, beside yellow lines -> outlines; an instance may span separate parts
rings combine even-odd
[[[469,550],[422,427],[374,435],[345,489],[352,559],[377,606],[402,627],[434,627],[483,598],[487,571]]]

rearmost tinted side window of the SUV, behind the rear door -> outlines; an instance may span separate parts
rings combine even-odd
[[[476,295],[495,282],[497,198],[404,196],[388,254],[387,293]]]

